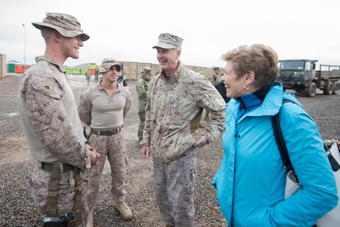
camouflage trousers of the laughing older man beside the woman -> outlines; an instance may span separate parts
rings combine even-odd
[[[156,202],[165,223],[175,227],[194,227],[195,148],[169,163],[153,158],[153,173]]]

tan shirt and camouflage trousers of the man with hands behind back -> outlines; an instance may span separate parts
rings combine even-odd
[[[84,91],[79,99],[78,112],[80,120],[93,127],[94,117],[96,119],[102,119],[102,124],[106,124],[107,121],[110,124],[116,126],[121,126],[123,123],[123,118],[125,118],[130,110],[132,103],[132,96],[130,91],[117,83],[117,88],[111,97],[108,96],[104,88],[100,86],[101,81],[98,84],[90,87]],[[102,102],[106,100],[106,102]],[[95,102],[95,103],[94,103]],[[122,106],[117,106],[117,103],[124,103]],[[94,106],[94,104],[96,106]],[[100,111],[103,114],[92,116],[93,108],[96,111]],[[102,110],[101,110],[102,109]],[[113,116],[106,116],[107,111],[121,112],[119,119]],[[106,116],[106,117],[105,117]],[[116,125],[119,123],[119,125]],[[110,130],[111,128],[94,128],[95,130]],[[97,203],[98,190],[100,177],[105,165],[106,157],[108,157],[110,167],[111,167],[111,195],[115,202],[122,202],[126,197],[125,190],[125,170],[128,161],[126,155],[125,139],[124,133],[119,132],[112,136],[104,135],[94,135],[92,134],[89,138],[89,144],[93,146],[96,151],[100,154],[99,164],[93,166],[90,171],[90,183],[88,190],[88,205],[89,207],[94,206]]]

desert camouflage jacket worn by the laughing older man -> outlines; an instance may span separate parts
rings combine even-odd
[[[202,75],[179,62],[167,81],[162,71],[151,81],[141,144],[150,144],[152,156],[170,162],[196,143],[203,108],[210,110],[205,136],[209,143],[224,129],[225,102],[214,86]]]

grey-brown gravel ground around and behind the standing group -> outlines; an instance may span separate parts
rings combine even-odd
[[[0,80],[0,227],[40,227],[43,216],[35,207],[27,177],[36,164],[27,149],[24,130],[18,112],[17,93],[20,75],[8,74]],[[92,79],[93,80],[93,79]],[[88,86],[81,76],[70,76],[69,82],[76,101]],[[130,221],[124,221],[113,208],[110,196],[110,167],[105,165],[100,182],[98,204],[94,209],[94,225],[100,227],[160,227],[165,226],[155,203],[152,186],[152,160],[143,160],[137,148],[138,97],[135,81],[129,81],[133,103],[124,121],[127,153],[126,202],[133,212]],[[91,81],[90,85],[94,84]],[[290,91],[294,93],[294,91]],[[314,98],[296,94],[305,110],[318,124],[323,139],[340,139],[340,95]],[[204,129],[200,128],[203,134]],[[226,226],[211,181],[223,157],[222,141],[197,150],[197,181],[195,189],[195,219],[197,227]]]

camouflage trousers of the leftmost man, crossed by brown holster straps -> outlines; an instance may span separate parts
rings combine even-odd
[[[59,191],[58,191],[58,202],[57,202],[57,215],[64,216],[70,212],[75,205],[75,178],[73,171],[63,173],[63,165],[60,164],[60,180],[59,180]],[[88,175],[83,171],[80,172],[80,177],[83,180],[82,186],[84,190],[82,192],[82,203],[84,222],[78,227],[85,227],[87,222],[87,216],[89,214],[89,207],[87,206],[87,183]],[[32,177],[28,179],[31,185],[31,192],[33,201],[36,204],[38,211],[45,214],[50,210],[48,203],[48,188],[51,182],[51,173],[46,172],[41,168],[41,163],[38,162],[36,165]]]

